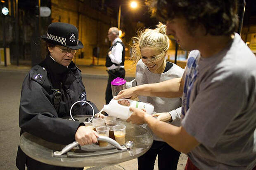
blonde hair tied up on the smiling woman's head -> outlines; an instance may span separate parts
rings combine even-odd
[[[140,49],[149,47],[159,51],[159,55],[150,59],[147,63],[154,62],[155,60],[164,57],[166,51],[169,49],[169,38],[166,35],[166,25],[159,22],[156,29],[145,29],[138,32],[137,37],[133,37],[132,41],[132,56],[133,64],[136,64],[141,58]]]

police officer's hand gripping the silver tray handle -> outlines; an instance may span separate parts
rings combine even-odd
[[[75,140],[81,146],[96,143],[97,137],[99,137],[98,133],[86,126],[80,126],[75,134]]]

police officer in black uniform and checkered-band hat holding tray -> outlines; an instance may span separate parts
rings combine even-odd
[[[47,35],[41,37],[48,55],[26,75],[21,89],[19,127],[44,140],[70,144],[76,140],[80,145],[97,142],[98,134],[78,121],[62,119],[69,116],[71,105],[84,100],[95,110],[97,107],[86,98],[81,70],[72,59],[76,50],[83,48],[78,40],[78,30],[68,23],[52,23]],[[92,108],[86,103],[77,103],[73,115],[92,115]],[[47,165],[28,157],[18,148],[16,165],[19,170],[83,170]]]

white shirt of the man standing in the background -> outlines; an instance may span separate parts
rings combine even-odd
[[[114,45],[117,41],[122,42],[120,38],[116,38],[113,42],[112,45]],[[109,54],[109,58],[112,63],[120,64],[122,63],[122,54],[123,54],[123,46],[120,43],[116,43],[116,45],[111,49],[111,54]],[[108,67],[108,70],[113,70],[116,68],[124,68],[123,65],[114,65],[112,64],[110,67]]]

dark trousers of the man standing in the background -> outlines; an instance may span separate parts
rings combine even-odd
[[[118,68],[114,70],[109,70],[108,73],[109,73],[109,79],[107,82],[107,89],[106,89],[106,95],[105,95],[106,104],[109,104],[110,100],[113,98],[112,90],[111,90],[111,82],[117,77],[124,79],[126,75],[126,71],[124,70],[124,68]]]

